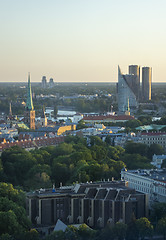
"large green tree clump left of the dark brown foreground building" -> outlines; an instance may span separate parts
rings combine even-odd
[[[30,228],[24,203],[22,191],[14,189],[11,184],[0,183],[0,234],[13,236]]]

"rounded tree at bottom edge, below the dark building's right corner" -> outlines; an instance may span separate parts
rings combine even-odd
[[[136,220],[136,227],[142,240],[153,235],[153,225],[146,217]]]

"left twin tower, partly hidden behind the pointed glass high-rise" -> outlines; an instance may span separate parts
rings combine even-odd
[[[137,76],[135,78],[135,81],[132,82],[132,89],[137,97],[139,99],[139,93],[140,93],[140,67],[138,65],[130,65],[129,66],[129,74],[133,74]]]

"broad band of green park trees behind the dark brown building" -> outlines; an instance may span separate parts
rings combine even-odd
[[[0,180],[29,191],[59,187],[75,182],[120,179],[122,168],[152,168],[152,154],[162,154],[160,145],[148,147],[128,142],[125,148],[111,146],[97,136],[67,136],[58,146],[26,151],[18,146],[3,151],[0,159]],[[133,161],[134,159],[134,161]]]

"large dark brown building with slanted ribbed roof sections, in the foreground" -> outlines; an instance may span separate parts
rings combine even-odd
[[[54,225],[60,219],[66,224],[103,228],[107,223],[129,223],[133,214],[147,216],[148,198],[122,181],[76,184],[28,194],[27,211],[39,226]]]

